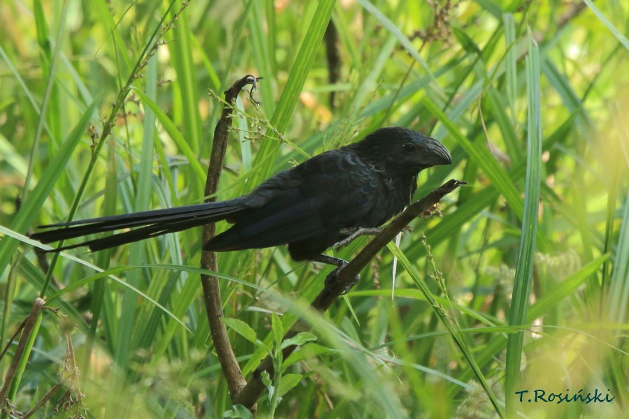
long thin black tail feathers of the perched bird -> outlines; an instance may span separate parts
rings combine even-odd
[[[51,243],[95,233],[120,230],[121,228],[140,227],[124,233],[48,250],[54,252],[88,246],[91,251],[99,251],[116,247],[120,244],[138,242],[149,237],[215,223],[245,210],[247,210],[247,207],[243,205],[243,199],[235,198],[218,203],[187,205],[166,210],[132,212],[131,214],[103,216],[101,218],[71,221],[69,223],[49,224],[47,226],[39,226],[38,228],[54,228],[53,230],[34,233],[31,235],[31,238],[42,243]]]

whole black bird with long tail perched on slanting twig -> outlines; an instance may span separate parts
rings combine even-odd
[[[321,253],[352,230],[375,228],[409,205],[417,174],[450,164],[437,140],[406,128],[380,128],[360,142],[321,153],[230,200],[50,224],[31,237],[42,243],[139,227],[50,251],[88,246],[99,251],[226,220],[233,226],[203,250],[232,251],[288,244],[294,260],[341,266]]]

